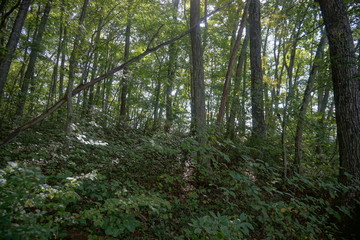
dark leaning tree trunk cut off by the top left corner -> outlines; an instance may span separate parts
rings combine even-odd
[[[13,29],[6,44],[6,53],[0,56],[0,99],[2,98],[7,75],[10,70],[12,58],[20,39],[21,29],[24,25],[31,0],[23,0],[20,4]]]

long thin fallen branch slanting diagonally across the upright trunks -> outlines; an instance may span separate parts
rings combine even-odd
[[[231,3],[233,3],[234,0],[231,0],[230,2],[228,2],[227,4],[225,4],[224,6],[212,11],[211,13],[209,13],[208,15],[206,15],[205,17],[200,19],[200,22],[198,24],[200,24],[202,21],[204,21],[206,18],[209,18],[210,16],[214,15],[215,13],[223,10],[224,8],[226,8],[227,6],[229,6]],[[186,35],[188,35],[191,31],[193,31],[198,24],[195,24],[194,26],[192,26],[191,28],[189,28],[187,31],[183,32],[182,34],[178,35],[175,38],[172,38],[168,41],[165,41],[153,48],[147,48],[143,53],[137,55],[136,57],[130,59],[129,61],[121,64],[120,66],[117,66],[113,69],[111,69],[110,71],[108,71],[107,73],[92,79],[90,82],[84,83],[84,84],[80,84],[79,86],[77,86],[73,91],[72,91],[72,96],[77,95],[78,93],[80,93],[81,91],[83,91],[84,89],[91,87],[93,85],[95,85],[96,83],[100,82],[101,80],[104,80],[107,77],[112,76],[114,73],[124,69],[125,67],[129,66],[130,64],[139,61],[140,59],[144,58],[145,56],[149,55],[150,53],[153,53],[155,51],[157,51],[158,49],[165,47],[167,45],[169,45],[170,43],[173,43],[183,37],[185,37]],[[44,120],[45,118],[47,118],[49,115],[51,115],[53,112],[55,112],[58,108],[60,108],[64,103],[67,102],[67,94],[65,94],[65,96],[63,96],[60,100],[58,100],[53,106],[51,106],[50,108],[48,108],[45,112],[43,112],[41,115],[37,116],[36,118],[30,120],[29,122],[25,123],[24,125],[18,127],[15,131],[13,131],[7,138],[5,138],[0,146],[3,146],[7,143],[9,143],[11,140],[13,140],[15,137],[17,137],[21,132],[25,131],[26,129],[34,126],[35,124],[41,122],[42,120]]]

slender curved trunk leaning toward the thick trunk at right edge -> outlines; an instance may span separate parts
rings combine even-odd
[[[319,62],[324,57],[324,47],[326,43],[325,36],[322,36],[320,39],[319,46],[316,51],[316,55],[314,58],[314,63],[312,65],[308,82],[306,84],[304,97],[301,103],[299,118],[297,121],[296,126],[296,134],[295,134],[295,171],[297,173],[301,173],[301,162],[302,162],[302,142],[303,142],[303,128],[305,123],[305,115],[308,109],[310,100],[311,100],[311,93],[313,91],[314,83],[317,79],[318,72],[319,72]]]

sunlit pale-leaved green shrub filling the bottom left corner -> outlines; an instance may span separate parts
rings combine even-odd
[[[0,236],[5,239],[49,239],[59,226],[73,222],[67,205],[79,200],[74,185],[50,186],[39,168],[15,162],[0,170]]]

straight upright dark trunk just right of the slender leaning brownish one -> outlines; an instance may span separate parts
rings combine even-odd
[[[249,11],[252,133],[256,138],[264,138],[266,126],[261,60],[260,0],[251,0]]]

